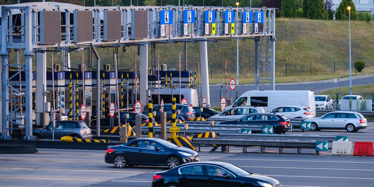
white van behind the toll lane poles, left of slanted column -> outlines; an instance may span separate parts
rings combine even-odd
[[[173,96],[172,96],[173,92]],[[158,89],[154,89],[154,91],[151,93],[153,100],[153,103],[158,103],[157,100],[158,97]],[[177,103],[180,103],[181,99],[186,98],[187,104],[191,105],[192,107],[198,107],[199,106],[199,95],[197,95],[196,89],[189,89],[189,88],[182,88],[181,89],[181,98],[179,97],[179,88],[177,89],[171,89],[171,88],[160,88],[160,102],[161,99],[163,99],[164,103],[171,103],[171,98],[175,97]]]

